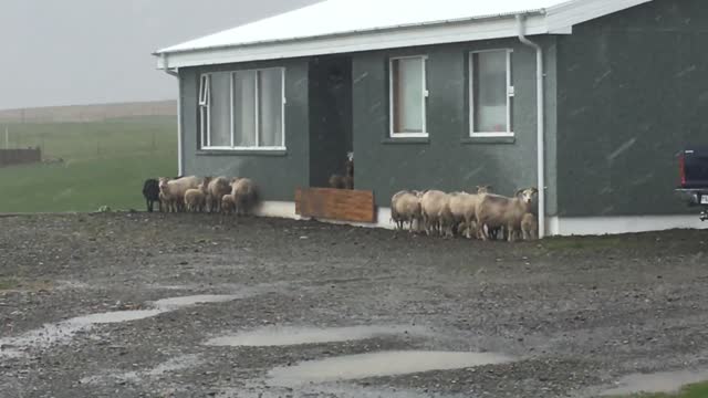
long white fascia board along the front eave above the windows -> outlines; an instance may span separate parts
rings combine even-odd
[[[528,35],[549,33],[545,17],[528,15]],[[158,53],[158,69],[292,59],[299,56],[341,54],[417,45],[458,43],[467,41],[516,38],[519,28],[513,15],[467,23],[420,25],[393,31],[354,33],[321,39],[294,40],[235,48],[214,48],[195,51]]]

